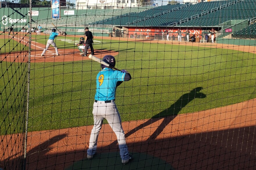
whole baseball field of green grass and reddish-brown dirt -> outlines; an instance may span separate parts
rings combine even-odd
[[[16,75],[12,68],[22,68],[19,75],[28,69],[23,56],[28,44],[21,37],[0,36],[5,44],[0,49],[1,101],[14,103],[3,103],[0,113],[5,127],[1,136],[6,141],[11,141],[10,134],[21,133],[15,127],[23,122],[23,110],[12,120],[6,114],[20,106],[12,94],[19,93],[14,89],[22,85],[19,77],[10,78]],[[254,48],[94,37],[95,56],[113,55],[115,67],[132,76],[116,91],[127,145],[134,155],[131,164],[124,166],[118,164],[116,137],[108,125],[100,132],[97,159],[85,159],[100,64],[79,55],[74,45],[79,35],[57,37],[60,56],[49,48],[41,57],[46,38],[32,35],[28,169],[239,169],[254,164],[255,148],[244,147],[255,143],[249,136],[256,124]],[[244,160],[234,153],[239,148]]]

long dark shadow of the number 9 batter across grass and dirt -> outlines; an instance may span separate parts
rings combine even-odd
[[[145,123],[135,127],[131,131],[128,131],[126,137],[135,133],[136,131],[143,129],[157,121],[161,118],[164,118],[163,122],[158,125],[158,128],[154,131],[153,134],[150,135],[150,139],[155,139],[157,136],[164,130],[166,125],[168,125],[179,113],[179,111],[185,107],[189,102],[191,102],[195,98],[205,98],[206,94],[200,92],[203,88],[196,87],[191,90],[189,93],[183,94],[175,103],[173,103],[168,109],[161,111],[159,114],[153,116],[151,119],[147,120]],[[168,116],[168,117],[167,117]]]

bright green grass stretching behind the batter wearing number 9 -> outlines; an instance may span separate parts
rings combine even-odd
[[[96,43],[95,49],[119,51],[115,56],[116,67],[127,69],[132,76],[131,81],[122,83],[116,92],[122,121],[186,114],[256,97],[255,54],[216,48],[103,41],[103,44]],[[65,42],[57,40],[57,45],[63,44]],[[17,133],[15,126],[24,119],[20,116],[24,114],[20,100],[26,96],[22,96],[24,90],[17,89],[25,86],[21,81],[26,81],[27,68],[25,64],[11,64],[2,62],[0,65],[4,75],[0,77],[1,102],[8,98],[8,102],[3,103],[5,107],[0,109],[1,135]],[[16,70],[20,71],[15,73]],[[92,61],[31,64],[29,131],[92,125],[95,78],[99,70],[99,63]],[[8,113],[8,110],[11,111]]]

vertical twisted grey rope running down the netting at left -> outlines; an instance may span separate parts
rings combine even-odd
[[[29,122],[29,88],[30,88],[30,57],[31,57],[31,28],[32,28],[32,0],[29,0],[29,58],[28,58],[28,80],[27,80],[27,105],[26,105],[26,124],[24,137],[24,162],[23,169],[26,170],[27,137]]]

